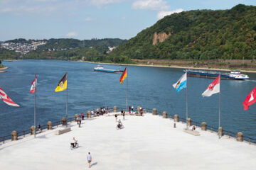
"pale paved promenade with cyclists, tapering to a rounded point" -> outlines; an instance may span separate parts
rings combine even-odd
[[[200,136],[183,132],[185,123],[159,115],[125,116],[124,129],[117,130],[114,116],[73,122],[70,132],[55,135],[59,126],[22,140],[0,145],[0,168],[46,170],[88,169],[255,169],[256,146],[234,138],[218,139],[215,132],[196,130]],[[122,120],[122,116],[118,116]],[[80,147],[70,149],[73,137]]]

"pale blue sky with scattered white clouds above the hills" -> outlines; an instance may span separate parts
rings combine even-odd
[[[256,0],[0,0],[0,41],[134,37],[166,15]]]

